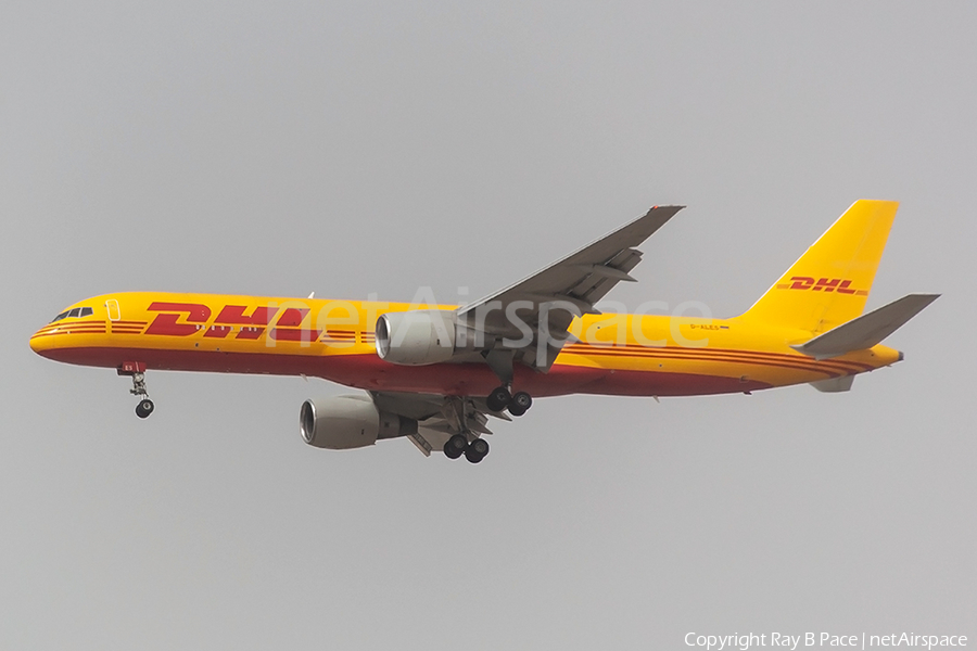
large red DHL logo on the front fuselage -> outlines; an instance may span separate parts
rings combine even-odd
[[[305,307],[259,306],[253,308],[251,314],[245,314],[248,307],[244,305],[225,305],[210,326],[211,308],[199,303],[156,302],[147,309],[160,314],[147,328],[145,334],[189,336],[203,330],[205,337],[226,339],[234,326],[240,327],[234,335],[239,340],[259,339],[265,330],[268,330],[269,337],[279,342],[314,342],[321,334],[320,330],[302,327],[309,311]]]

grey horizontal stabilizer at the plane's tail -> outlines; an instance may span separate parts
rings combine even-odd
[[[939,298],[939,294],[910,294],[885,307],[862,315],[847,323],[815,336],[805,344],[790,346],[815,359],[837,357],[854,350],[864,350],[878,344],[899,330],[910,319]]]

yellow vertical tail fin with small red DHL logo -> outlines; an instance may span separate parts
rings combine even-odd
[[[816,333],[860,316],[898,207],[853,203],[743,318]]]

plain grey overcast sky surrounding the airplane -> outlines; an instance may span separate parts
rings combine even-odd
[[[0,647],[977,643],[977,9],[847,2],[8,2]],[[124,290],[502,288],[688,205],[609,298],[745,310],[860,197],[870,297],[943,297],[848,394],[538,400],[473,467],[318,450],[321,380],[34,355]],[[465,296],[461,297],[465,299]]]

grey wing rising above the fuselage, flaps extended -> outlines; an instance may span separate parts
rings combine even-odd
[[[529,278],[481,301],[458,309],[459,321],[495,336],[520,339],[524,333],[511,323],[507,309],[515,310],[533,331],[533,342],[515,352],[518,360],[548,370],[560,349],[560,340],[573,318],[583,314],[599,314],[594,305],[621,281],[634,281],[630,271],[642,259],[640,245],[685,206],[655,206],[618,230],[568,255]],[[488,309],[491,308],[491,309]],[[549,350],[546,359],[536,359],[540,330],[545,329]],[[486,360],[496,372],[511,367],[511,361],[493,360],[492,350],[503,346],[487,346]],[[496,354],[500,356],[503,353]],[[505,374],[505,373],[503,373]]]

